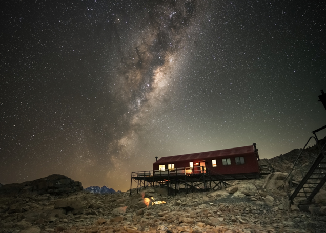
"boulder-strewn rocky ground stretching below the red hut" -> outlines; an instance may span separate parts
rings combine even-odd
[[[293,189],[276,188],[283,182],[281,177],[284,174],[234,181],[227,189],[176,196],[156,187],[133,195],[75,192],[1,197],[0,232],[326,232],[326,192],[322,190],[316,204],[300,211],[288,202]],[[166,203],[151,205],[152,197]],[[148,207],[144,198],[151,200]]]

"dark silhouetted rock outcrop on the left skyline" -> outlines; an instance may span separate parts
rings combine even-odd
[[[0,187],[0,196],[15,195],[61,195],[83,190],[81,182],[74,181],[63,175],[50,175],[20,184],[5,184]]]

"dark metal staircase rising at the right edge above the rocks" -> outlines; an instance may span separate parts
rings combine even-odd
[[[317,140],[318,141],[318,140]],[[298,187],[289,198],[293,202],[294,198],[303,193],[307,201],[311,202],[321,187],[326,183],[326,143],[322,145],[318,156],[313,162],[310,170],[304,175]],[[302,197],[302,195],[300,195]]]

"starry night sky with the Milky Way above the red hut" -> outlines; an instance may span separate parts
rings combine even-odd
[[[125,191],[155,156],[272,158],[326,124],[324,1],[1,3],[2,184]]]

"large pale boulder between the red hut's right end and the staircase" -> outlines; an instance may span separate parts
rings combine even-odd
[[[262,186],[263,189],[279,189],[279,190],[289,190],[292,186],[292,177],[289,176],[286,181],[287,173],[271,173],[265,178],[265,182]]]

